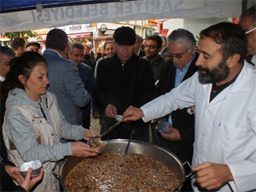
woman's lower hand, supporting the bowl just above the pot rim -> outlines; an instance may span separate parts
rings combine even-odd
[[[86,143],[74,142],[71,144],[73,156],[76,157],[90,157],[96,156],[98,150],[96,148],[90,148]]]

